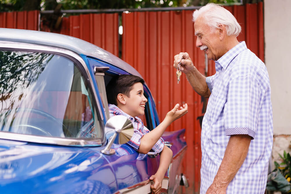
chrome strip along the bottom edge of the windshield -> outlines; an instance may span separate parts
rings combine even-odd
[[[100,146],[100,139],[69,139],[69,138],[57,138],[57,137],[46,137],[36,136],[27,134],[15,134],[11,132],[0,131],[1,139],[33,142],[33,143],[45,143],[53,145],[66,145],[66,146]]]

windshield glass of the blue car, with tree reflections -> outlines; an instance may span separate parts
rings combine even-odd
[[[0,51],[1,131],[101,138],[92,92],[72,60],[57,54]]]

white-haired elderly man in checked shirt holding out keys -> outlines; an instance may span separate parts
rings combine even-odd
[[[238,42],[241,27],[217,4],[193,13],[196,47],[215,60],[216,73],[203,76],[188,53],[174,67],[193,89],[209,97],[201,130],[200,193],[264,193],[273,144],[272,104],[265,64]]]

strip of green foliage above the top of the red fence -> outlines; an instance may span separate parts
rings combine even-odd
[[[63,10],[121,9],[151,7],[186,7],[213,3],[237,3],[240,0],[0,0],[0,11],[54,10],[58,4]]]

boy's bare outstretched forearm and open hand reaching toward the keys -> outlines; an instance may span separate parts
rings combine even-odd
[[[182,117],[188,112],[188,105],[184,104],[180,107],[176,104],[175,107],[166,114],[165,119],[152,131],[148,132],[141,138],[141,144],[139,145],[139,153],[147,154],[150,149],[157,143],[162,136],[166,128],[176,119]]]

